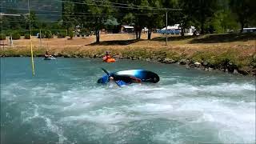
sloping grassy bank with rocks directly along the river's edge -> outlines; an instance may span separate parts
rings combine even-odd
[[[107,50],[114,58],[119,59],[179,63],[202,70],[256,75],[256,51],[251,45],[34,47],[34,56],[42,57],[46,50],[56,57],[65,58],[102,58]],[[30,55],[30,48],[27,47],[0,50],[1,57],[30,57]]]

